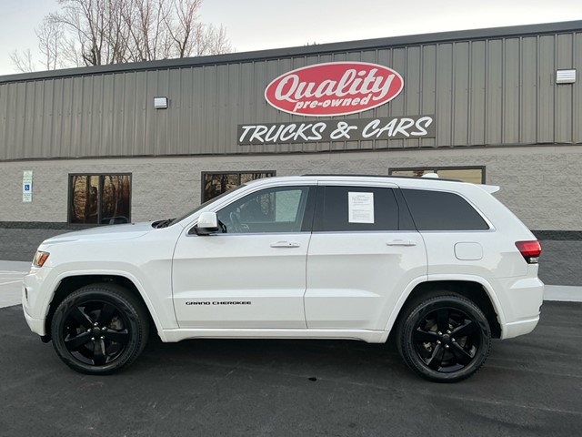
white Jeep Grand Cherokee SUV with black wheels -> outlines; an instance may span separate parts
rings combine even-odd
[[[435,178],[299,176],[180,219],[47,239],[24,279],[31,330],[67,365],[127,367],[155,328],[194,338],[396,335],[406,364],[459,381],[492,338],[533,330],[541,248],[491,193]]]

